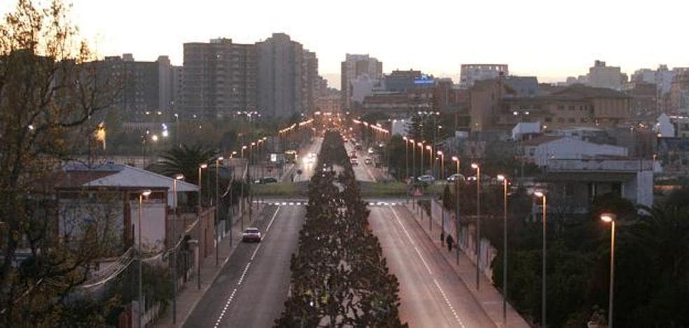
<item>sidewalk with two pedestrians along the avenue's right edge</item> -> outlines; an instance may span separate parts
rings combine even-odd
[[[435,200],[434,200],[435,202]],[[503,298],[502,294],[492,285],[490,280],[481,276],[480,280],[480,290],[476,290],[476,267],[468,259],[464,252],[459,253],[459,264],[457,262],[457,253],[452,250],[452,252],[447,252],[447,244],[440,242],[440,212],[438,210],[433,212],[432,221],[432,231],[429,230],[429,219],[428,215],[424,213],[423,221],[419,221],[419,211],[412,210],[412,203],[405,203],[405,207],[412,213],[415,217],[417,224],[422,228],[426,235],[429,236],[433,245],[438,247],[438,251],[443,254],[443,257],[447,260],[447,263],[454,268],[454,271],[459,275],[464,285],[473,295],[475,301],[480,304],[480,306],[485,310],[488,317],[495,322],[496,327],[530,327],[529,324],[522,318],[519,313],[510,305],[507,304],[507,324],[503,324]],[[434,206],[435,207],[435,206]],[[445,212],[445,233],[452,231],[452,236],[454,238],[454,222],[449,219],[450,214]]]

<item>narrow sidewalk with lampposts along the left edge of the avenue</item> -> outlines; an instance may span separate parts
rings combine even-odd
[[[244,213],[244,227],[251,226],[256,219],[260,217],[261,212],[263,212],[263,204],[258,205],[258,210],[253,210],[253,220],[249,222],[249,212]],[[211,287],[218,273],[225,265],[225,263],[230,258],[237,245],[241,242],[242,231],[241,231],[242,220],[237,215],[235,219],[232,220],[232,228],[230,232],[232,233],[232,247],[230,247],[230,235],[225,235],[225,238],[220,241],[218,245],[218,258],[219,263],[216,266],[216,255],[215,249],[213,254],[210,254],[201,262],[201,289],[197,289],[197,278],[196,275],[192,275],[190,280],[185,285],[179,286],[179,293],[177,294],[177,317],[176,322],[172,322],[172,301],[158,319],[153,322],[153,327],[182,327],[187,317],[196,307],[198,301],[201,300],[206,291]]]

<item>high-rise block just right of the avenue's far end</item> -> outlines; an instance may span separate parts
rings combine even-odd
[[[367,55],[347,54],[341,64],[342,75],[342,108],[352,108],[352,81],[362,76],[368,76],[367,81],[377,84],[383,78],[383,63]]]

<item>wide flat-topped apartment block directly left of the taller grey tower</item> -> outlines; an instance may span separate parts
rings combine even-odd
[[[253,44],[232,43],[232,39],[184,43],[184,114],[218,118],[235,111],[256,110],[256,63]]]

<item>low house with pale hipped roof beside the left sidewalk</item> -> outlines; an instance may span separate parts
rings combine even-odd
[[[59,200],[58,231],[61,240],[80,234],[95,224],[109,228],[127,245],[139,238],[139,195],[150,189],[142,202],[141,245],[154,252],[165,248],[167,208],[174,207],[174,179],[122,164],[95,165],[89,168],[68,163],[57,184]],[[197,192],[195,184],[178,181],[179,200],[186,193]]]

